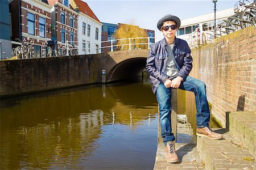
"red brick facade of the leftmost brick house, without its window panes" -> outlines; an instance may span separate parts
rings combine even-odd
[[[20,2],[20,4],[18,4]],[[32,1],[31,1],[32,2]],[[41,3],[41,4],[40,4]],[[10,11],[11,11],[11,20],[12,20],[12,32],[13,36],[11,39],[13,41],[24,41],[24,44],[28,44],[32,41],[32,58],[34,56],[34,45],[39,45],[39,53],[38,57],[42,57],[42,51],[47,46],[47,41],[51,40],[51,31],[48,32],[51,28],[51,6],[48,4],[44,4],[44,2],[38,3],[38,6],[31,5],[30,3],[24,1],[13,1],[10,3]],[[18,8],[20,6],[20,8]],[[46,10],[43,10],[47,9]],[[19,14],[20,11],[20,14]],[[34,35],[28,34],[28,12],[34,14]],[[19,16],[20,15],[20,16]],[[44,37],[40,37],[39,35],[39,16],[45,19],[45,35]],[[20,23],[19,23],[20,22]],[[30,58],[30,57],[29,57]]]

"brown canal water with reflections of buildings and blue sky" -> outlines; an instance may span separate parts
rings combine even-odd
[[[2,100],[0,168],[152,169],[155,113],[148,83],[100,84]]]

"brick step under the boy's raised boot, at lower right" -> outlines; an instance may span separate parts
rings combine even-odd
[[[226,131],[223,135],[224,139],[218,140],[221,149],[216,151],[208,147],[212,145],[209,139],[197,137],[197,148],[203,162],[205,162],[205,169],[255,169],[255,155],[251,154],[247,148],[234,145],[233,141],[237,139],[234,140],[230,131]],[[254,160],[245,161],[243,160],[244,156]]]

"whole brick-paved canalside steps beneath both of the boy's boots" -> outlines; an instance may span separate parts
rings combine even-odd
[[[245,116],[243,112],[240,112],[232,114],[232,116],[234,118],[230,120],[230,124],[232,124],[229,126],[232,129],[230,131],[234,131],[234,133],[239,131],[243,137],[246,137],[245,140],[241,141],[236,133],[232,134],[226,129],[213,129],[217,133],[221,133],[224,138],[210,140],[205,137],[197,137],[196,145],[195,143],[177,143],[175,147],[180,162],[175,164],[166,163],[165,147],[163,144],[159,144],[154,169],[256,169],[255,152],[252,154],[253,152],[250,151],[251,148],[255,149],[255,146],[250,147],[250,150],[245,147],[246,142],[247,145],[256,142],[255,121],[248,121],[256,120],[256,114],[251,117],[251,115]],[[240,119],[242,116],[245,117]],[[252,161],[243,158],[250,158]]]

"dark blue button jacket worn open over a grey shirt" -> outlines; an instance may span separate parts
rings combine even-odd
[[[169,56],[166,46],[166,39],[156,42],[150,47],[150,52],[147,57],[146,69],[150,74],[150,80],[153,85],[153,92],[155,94],[156,88],[160,83],[164,83],[168,75],[163,73],[166,67],[167,57]],[[183,81],[187,78],[192,69],[191,50],[185,40],[177,39],[175,37],[174,48],[172,49],[175,58],[175,64]]]

